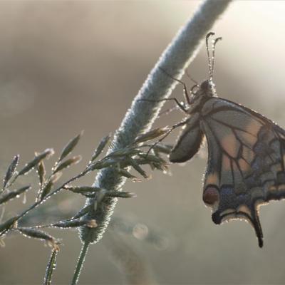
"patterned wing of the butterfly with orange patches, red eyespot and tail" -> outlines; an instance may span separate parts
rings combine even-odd
[[[221,98],[204,104],[201,128],[209,152],[203,199],[213,209],[213,222],[246,219],[262,247],[259,206],[285,198],[285,131]]]

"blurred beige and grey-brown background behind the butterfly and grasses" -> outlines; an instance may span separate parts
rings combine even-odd
[[[22,163],[46,147],[58,153],[85,130],[75,152],[83,161],[66,177],[82,170],[99,140],[118,128],[147,73],[199,3],[1,1],[1,175],[17,153]],[[212,28],[223,37],[214,76],[219,96],[283,127],[284,14],[284,1],[235,1]],[[207,77],[204,46],[189,72],[197,81]],[[177,86],[173,95],[182,98],[182,88]],[[181,118],[175,112],[156,125]],[[285,283],[284,202],[261,207],[263,249],[246,222],[213,224],[202,202],[205,154],[202,149],[186,165],[172,165],[172,176],[155,172],[152,180],[125,185],[138,197],[118,202],[113,224],[125,223],[121,229],[127,233],[113,227],[90,247],[80,284]],[[36,177],[29,179],[36,182]],[[89,175],[82,184],[93,180]],[[27,203],[33,197],[28,195]],[[69,217],[84,199],[58,195],[42,210],[49,222],[57,218],[56,203],[62,217]],[[6,207],[6,217],[24,207],[17,199]],[[49,232],[64,244],[54,283],[69,284],[81,248],[78,233]],[[155,238],[146,238],[150,235]],[[19,234],[5,242],[0,284],[41,284],[50,249]]]

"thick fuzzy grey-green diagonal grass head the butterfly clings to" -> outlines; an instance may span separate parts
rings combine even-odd
[[[185,72],[185,68],[195,58],[204,36],[212,27],[214,21],[227,8],[230,1],[203,1],[191,19],[180,29],[170,45],[162,53],[149,76],[147,76],[138,95],[135,96],[120,128],[115,133],[112,147],[110,147],[108,152],[130,145],[140,133],[150,129],[155,118],[157,118],[163,102],[150,103],[141,101],[141,99],[161,100],[167,98],[177,85],[177,81],[166,76],[165,73],[161,72],[160,68],[170,73],[173,77],[180,79]],[[118,172],[115,172],[112,168],[108,168],[98,173],[94,186],[114,191],[120,190],[124,182],[125,178],[120,177]],[[95,219],[98,227],[94,229],[81,227],[81,240],[84,244],[86,242],[92,244],[101,239],[105,229],[108,227],[116,202],[117,199],[110,198],[102,202],[100,207],[96,207],[96,198],[86,200],[86,205],[95,205],[95,207],[90,207],[90,212],[86,216],[90,219]],[[81,256],[82,254],[81,252]]]

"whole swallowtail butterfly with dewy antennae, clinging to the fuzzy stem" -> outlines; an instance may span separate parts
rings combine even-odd
[[[212,220],[222,224],[244,219],[255,230],[259,247],[263,234],[259,207],[285,198],[285,130],[263,115],[230,100],[218,98],[213,83],[214,48],[209,56],[209,79],[187,92],[186,105],[177,102],[187,118],[174,125],[182,133],[170,152],[170,162],[190,160],[207,140],[208,162],[203,201],[212,208]],[[169,75],[169,74],[168,74]],[[175,78],[173,78],[175,79]]]

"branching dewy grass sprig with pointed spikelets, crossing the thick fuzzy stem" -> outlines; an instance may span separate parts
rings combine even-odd
[[[160,130],[154,130],[150,133],[146,133],[145,140],[159,138],[163,134]],[[37,153],[33,159],[26,164],[24,167],[21,168],[19,172],[17,172],[18,162],[19,162],[19,155],[16,155],[11,164],[6,171],[6,175],[4,176],[3,187],[0,193],[0,206],[4,209],[5,206],[9,206],[9,202],[15,197],[20,197],[24,195],[25,192],[31,191],[31,186],[27,185],[21,187],[17,190],[12,190],[14,187],[14,183],[18,180],[21,180],[21,177],[24,175],[28,175],[32,171],[36,171],[38,174],[39,180],[39,187],[38,191],[36,192],[36,199],[31,206],[27,209],[24,209],[21,214],[16,214],[14,217],[7,219],[5,222],[0,224],[0,239],[3,242],[6,234],[10,233],[19,233],[24,235],[24,237],[28,237],[31,239],[38,239],[43,242],[46,242],[49,247],[52,249],[51,258],[48,261],[47,269],[46,269],[46,276],[44,279],[44,284],[51,284],[51,277],[53,271],[56,266],[56,255],[61,246],[61,242],[56,237],[51,236],[47,232],[43,232],[41,229],[43,228],[58,228],[58,229],[71,229],[71,228],[80,228],[86,227],[88,229],[95,229],[98,227],[100,220],[93,219],[88,217],[88,213],[90,209],[102,209],[103,204],[105,204],[110,199],[118,199],[118,198],[133,198],[136,195],[131,192],[121,191],[121,190],[107,190],[102,187],[92,187],[92,186],[74,186],[71,182],[88,175],[90,172],[100,171],[105,168],[111,168],[114,172],[118,173],[118,175],[122,175],[123,177],[128,177],[133,181],[139,181],[139,179],[130,174],[129,171],[135,170],[138,172],[138,175],[141,175],[142,178],[147,178],[149,175],[142,170],[140,165],[150,165],[152,169],[157,170],[167,170],[167,162],[160,157],[160,150],[157,150],[157,147],[154,148],[156,151],[153,154],[148,154],[149,145],[143,145],[143,142],[140,140],[139,142],[134,142],[133,144],[129,145],[128,147],[124,147],[123,149],[114,150],[110,152],[105,157],[99,159],[99,155],[102,155],[105,147],[107,146],[108,142],[110,141],[110,135],[103,138],[99,143],[96,150],[93,152],[93,155],[90,157],[90,161],[88,165],[84,167],[83,171],[78,175],[71,177],[66,182],[61,182],[61,186],[55,187],[55,183],[61,179],[61,174],[63,171],[67,170],[69,167],[72,167],[74,164],[78,163],[81,160],[81,156],[76,155],[74,157],[68,158],[68,155],[71,154],[71,151],[76,147],[79,142],[80,136],[76,136],[73,138],[66,147],[63,147],[61,155],[58,160],[54,163],[53,167],[49,171],[49,176],[46,177],[46,167],[44,166],[44,160],[48,157],[54,155],[54,151],[51,149],[44,150],[43,152]],[[162,149],[162,145],[160,145]],[[154,159],[155,157],[155,159]],[[132,170],[133,168],[133,170]],[[128,175],[126,175],[128,173]],[[135,180],[135,179],[136,180]],[[141,180],[140,180],[141,181]],[[60,220],[53,224],[36,224],[36,225],[28,225],[23,226],[22,220],[33,209],[36,209],[41,204],[44,204],[47,199],[56,195],[60,191],[73,193],[73,195],[83,195],[86,199],[95,199],[95,203],[92,204],[92,207],[84,207],[81,209],[77,214],[69,219]],[[6,210],[6,215],[9,216],[8,210]],[[5,217],[5,214],[3,214]],[[81,257],[78,259],[78,264],[83,264],[85,259],[85,254],[88,249],[89,242],[84,244],[83,250],[81,252]],[[77,267],[75,280],[78,280],[78,274],[81,271],[81,266]]]

